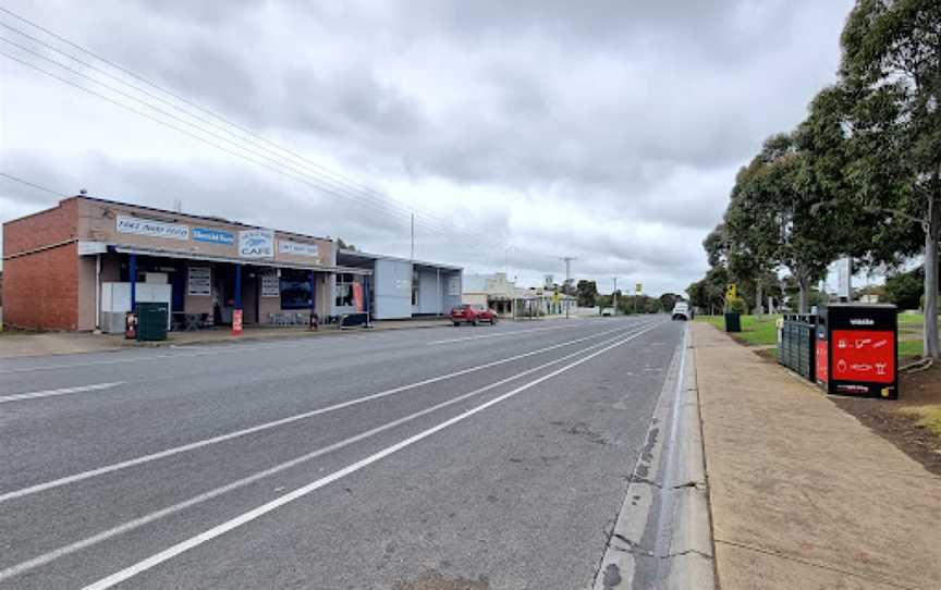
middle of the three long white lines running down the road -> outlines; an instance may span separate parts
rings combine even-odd
[[[650,327],[648,330],[652,330],[653,328],[656,328],[656,325]],[[630,336],[630,340],[633,340],[634,337],[640,335],[640,333],[643,333],[643,332],[632,334]],[[28,560],[26,562],[23,562],[23,563],[16,564],[14,566],[8,567],[7,569],[0,570],[0,581],[12,578],[14,576],[19,576],[21,574],[25,574],[26,571],[29,571],[30,569],[35,569],[39,566],[46,565],[46,564],[48,564],[54,560],[58,560],[59,557],[64,557],[65,555],[71,555],[72,553],[76,553],[78,551],[82,551],[83,549],[87,549],[91,545],[96,545],[102,541],[106,541],[106,540],[111,539],[113,537],[117,537],[119,534],[123,534],[123,533],[129,532],[131,530],[140,528],[140,527],[148,525],[155,520],[170,516],[172,514],[175,514],[175,513],[181,512],[183,509],[190,508],[190,507],[195,506],[197,504],[201,504],[203,502],[209,501],[213,497],[218,497],[222,494],[225,494],[225,493],[231,492],[233,490],[236,490],[239,488],[244,488],[245,485],[254,483],[255,481],[258,481],[258,480],[264,479],[266,477],[272,476],[272,475],[278,474],[280,471],[284,471],[285,469],[290,469],[291,467],[295,467],[302,463],[317,458],[321,455],[326,455],[328,453],[339,451],[340,448],[343,448],[345,446],[349,446],[349,445],[356,443],[356,442],[359,442],[362,440],[368,439],[369,437],[374,437],[380,432],[384,432],[386,430],[390,430],[392,428],[402,426],[402,425],[410,422],[416,418],[420,418],[421,416],[426,416],[426,415],[431,414],[433,411],[437,411],[439,409],[454,405],[459,402],[463,402],[464,400],[467,400],[467,398],[473,397],[475,395],[480,395],[481,393],[485,393],[485,392],[488,392],[492,389],[499,388],[500,385],[504,385],[511,381],[515,381],[515,380],[520,379],[521,377],[525,377],[525,376],[531,374],[536,371],[540,371],[547,367],[551,367],[552,365],[558,365],[560,362],[564,362],[565,360],[569,360],[572,357],[587,353],[588,351],[592,351],[592,349],[598,348],[600,346],[604,346],[606,344],[610,344],[614,341],[621,340],[622,337],[623,337],[623,335],[616,335],[613,339],[608,339],[606,341],[599,342],[598,344],[592,344],[591,346],[587,346],[585,348],[582,348],[581,351],[575,351],[574,353],[569,353],[567,355],[561,356],[557,359],[550,360],[548,362],[543,362],[542,365],[539,365],[538,367],[534,367],[534,368],[527,369],[523,372],[520,372],[520,373],[513,374],[511,377],[501,379],[500,381],[490,383],[489,385],[485,385],[482,388],[476,389],[476,390],[471,391],[468,393],[461,394],[457,397],[453,397],[451,400],[448,400],[447,402],[441,402],[440,404],[429,406],[427,408],[418,410],[418,411],[411,414],[408,416],[404,416],[404,417],[399,418],[396,420],[393,420],[391,422],[387,422],[382,426],[378,426],[378,427],[372,428],[370,430],[367,430],[365,432],[360,432],[359,434],[355,434],[355,435],[350,437],[347,439],[344,439],[342,441],[335,442],[333,444],[323,446],[323,447],[318,448],[316,451],[311,451],[310,453],[306,453],[306,454],[301,455],[298,457],[295,457],[293,459],[286,460],[286,462],[281,463],[279,465],[276,465],[274,467],[271,467],[269,469],[258,471],[257,474],[253,474],[250,476],[239,479],[239,480],[233,481],[231,483],[227,483],[225,485],[219,487],[215,490],[204,492],[204,493],[196,495],[194,497],[191,497],[188,500],[184,500],[183,502],[179,502],[176,504],[173,504],[173,505],[168,506],[166,508],[161,508],[159,511],[156,511],[156,512],[150,513],[148,515],[142,516],[139,518],[129,520],[127,523],[124,523],[124,524],[119,525],[117,527],[110,528],[108,530],[103,530],[101,532],[93,534],[91,537],[87,537],[85,539],[82,539],[81,541],[76,541],[76,542],[71,543],[69,545],[64,545],[64,546],[61,546],[57,550],[50,551],[49,553],[38,555],[36,557],[33,557],[32,560]]]

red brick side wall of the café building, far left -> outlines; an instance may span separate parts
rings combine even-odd
[[[76,200],[3,224],[3,323],[75,330],[78,325]],[[41,251],[17,254],[69,244]]]

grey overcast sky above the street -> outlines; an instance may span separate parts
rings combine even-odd
[[[833,82],[852,0],[2,5],[273,143],[0,12],[3,53],[218,146],[0,56],[7,174],[400,256],[415,210],[416,258],[536,284],[573,256],[659,294],[701,276],[736,170]],[[0,177],[0,220],[58,198]]]

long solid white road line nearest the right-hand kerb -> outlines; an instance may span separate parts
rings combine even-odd
[[[652,330],[653,328],[657,328],[657,325],[660,325],[660,324],[658,323],[658,324],[651,325],[650,328],[648,328],[644,332]],[[268,513],[270,513],[277,508],[280,508],[281,506],[283,506],[284,504],[288,504],[289,502],[293,502],[294,500],[297,500],[298,497],[303,497],[303,496],[309,494],[310,492],[314,492],[314,491],[327,485],[328,483],[332,483],[339,479],[342,479],[342,478],[349,476],[350,474],[354,474],[354,472],[363,469],[364,467],[367,467],[367,466],[369,466],[369,465],[371,465],[371,464],[374,464],[374,463],[376,463],[382,458],[388,457],[389,455],[391,455],[393,453],[396,453],[396,452],[399,452],[399,451],[401,451],[407,446],[411,446],[411,445],[413,445],[413,444],[415,444],[415,443],[417,443],[424,439],[427,439],[428,437],[430,437],[437,432],[440,432],[441,430],[444,430],[448,427],[451,427],[453,425],[456,425],[457,422],[466,420],[467,418],[474,416],[475,414],[479,414],[480,411],[484,411],[485,409],[487,409],[491,406],[494,406],[494,405],[497,405],[497,404],[499,404],[505,400],[509,400],[510,397],[513,397],[514,395],[516,395],[518,393],[522,393],[526,390],[529,390],[529,389],[538,385],[539,383],[542,383],[543,381],[548,381],[549,379],[552,379],[553,377],[557,377],[557,376],[559,376],[559,374],[561,374],[567,370],[571,370],[571,369],[573,369],[573,368],[575,368],[575,367],[577,367],[584,362],[587,362],[587,361],[591,360],[592,358],[595,358],[599,355],[602,355],[612,348],[615,348],[618,346],[621,346],[621,345],[634,340],[635,337],[639,336],[644,332],[638,332],[636,334],[632,334],[631,336],[619,340],[619,341],[614,342],[613,344],[609,344],[608,346],[604,346],[603,348],[596,351],[595,353],[591,353],[588,356],[582,357],[578,360],[575,360],[573,362],[570,362],[569,365],[565,365],[564,367],[560,367],[559,369],[555,369],[554,371],[552,371],[550,373],[547,373],[542,377],[534,379],[533,381],[529,381],[528,383],[524,383],[523,385],[520,385],[516,389],[513,389],[513,390],[511,390],[511,391],[509,391],[502,395],[499,395],[499,396],[494,397],[493,400],[490,400],[489,402],[485,402],[485,403],[480,404],[479,406],[475,406],[475,407],[468,409],[467,411],[459,414],[457,416],[450,418],[448,420],[444,420],[443,422],[440,422],[440,423],[438,423],[438,425],[436,425],[436,426],[433,426],[427,430],[423,430],[421,432],[414,434],[414,435],[412,435],[412,437],[410,437],[403,441],[400,441],[400,442],[398,442],[391,446],[387,446],[382,451],[374,453],[374,454],[369,455],[368,457],[359,459],[358,462],[353,463],[351,465],[347,465],[346,467],[344,467],[342,469],[333,471],[329,476],[322,477],[316,481],[311,481],[310,483],[308,483],[306,485],[297,488],[293,492],[289,492],[289,493],[286,493],[280,497],[277,497],[277,499],[274,499],[274,500],[272,500],[266,504],[258,506],[257,508],[254,508],[252,511],[243,513],[242,515],[236,516],[235,518],[232,518],[231,520],[227,520],[225,523],[222,523],[221,525],[218,525],[216,527],[212,527],[211,529],[203,531],[199,534],[196,534],[195,537],[191,537],[190,539],[186,539],[185,541],[176,543],[175,545],[172,545],[168,549],[164,549],[163,551],[161,551],[159,553],[155,553],[154,555],[150,555],[149,557],[147,557],[145,560],[142,560],[134,565],[125,567],[124,569],[121,569],[120,571],[115,571],[114,574],[111,574],[108,577],[101,578],[100,580],[98,580],[96,582],[89,583],[88,586],[86,586],[84,588],[84,590],[105,590],[105,589],[111,588],[114,585],[120,583],[124,580],[133,578],[134,576],[137,576],[138,574],[142,574],[142,573],[144,573],[144,571],[146,571],[146,570],[148,570],[148,569],[150,569],[157,565],[160,565],[161,563],[163,563],[168,560],[171,560],[171,558],[175,557],[176,555],[185,553],[185,552],[190,551],[191,549],[194,549],[198,545],[201,545],[203,543],[205,543],[207,541],[211,541],[212,539],[229,532],[230,530],[236,529],[236,528],[241,527],[242,525],[250,523],[252,520],[255,520],[255,519],[257,519],[257,518],[259,518],[259,517],[261,517],[261,516],[264,516],[264,515],[266,515],[266,514],[268,514]]]

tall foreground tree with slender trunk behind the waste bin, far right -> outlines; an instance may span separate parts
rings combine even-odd
[[[920,234],[925,257],[924,352],[939,357],[941,235],[941,2],[858,0],[841,37],[841,84],[853,162],[847,175],[867,210]],[[896,244],[906,250],[911,244]]]

